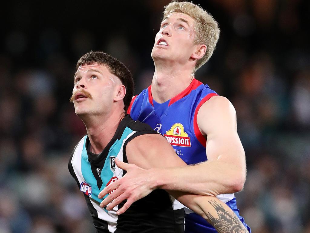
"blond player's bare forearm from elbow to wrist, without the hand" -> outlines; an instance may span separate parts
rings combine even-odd
[[[195,166],[151,170],[157,188],[208,196],[238,192],[245,180],[242,168],[219,159]]]

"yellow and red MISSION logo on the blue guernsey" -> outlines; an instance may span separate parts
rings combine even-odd
[[[191,147],[191,138],[184,130],[184,126],[176,123],[164,134],[168,142],[173,146]]]

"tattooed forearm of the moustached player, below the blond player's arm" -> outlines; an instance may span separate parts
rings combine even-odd
[[[216,197],[169,191],[179,202],[206,219],[219,233],[248,233],[237,215]]]

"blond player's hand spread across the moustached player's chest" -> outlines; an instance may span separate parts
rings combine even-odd
[[[124,206],[117,211],[117,214],[119,215],[124,213],[132,203],[144,198],[156,189],[156,186],[154,185],[155,173],[152,172],[152,169],[146,170],[134,164],[121,162],[117,158],[115,159],[115,164],[117,167],[126,170],[127,172],[121,179],[106,186],[104,190],[99,193],[98,198],[101,199],[106,194],[116,189],[100,203],[100,206],[105,207],[108,203],[113,201],[107,206],[107,210],[111,210],[123,200],[127,199]]]

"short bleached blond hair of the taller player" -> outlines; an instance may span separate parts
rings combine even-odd
[[[212,56],[219,39],[218,23],[207,11],[192,2],[170,2],[170,4],[164,9],[163,18],[174,12],[187,14],[196,21],[196,24],[194,25],[195,38],[193,43],[206,45],[205,55],[196,62],[195,71],[197,71]]]

